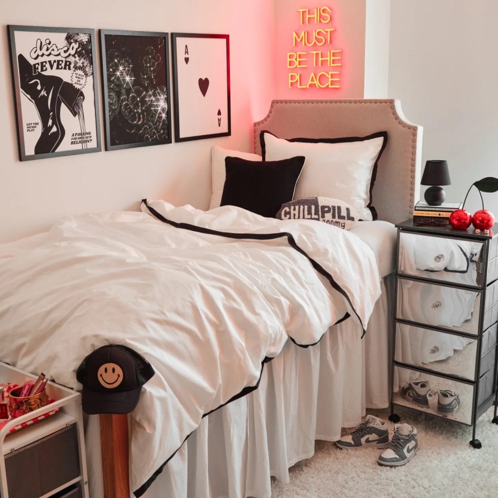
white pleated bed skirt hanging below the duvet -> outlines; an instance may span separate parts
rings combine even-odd
[[[393,282],[392,274],[382,280],[363,339],[351,318],[316,346],[288,341],[264,366],[259,387],[205,417],[143,497],[270,497],[270,476],[287,483],[289,467],[314,454],[315,439],[336,441],[367,407],[387,407]],[[104,496],[99,434],[92,415],[86,446],[96,498]]]

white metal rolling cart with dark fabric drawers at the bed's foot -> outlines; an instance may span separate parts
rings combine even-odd
[[[0,382],[22,385],[35,375],[0,363]],[[89,498],[80,393],[48,382],[56,401],[0,429],[1,498]],[[16,432],[22,422],[60,410]]]

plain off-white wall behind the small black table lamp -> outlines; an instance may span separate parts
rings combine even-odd
[[[391,2],[389,96],[424,127],[422,164],[448,161],[449,202],[463,201],[474,181],[498,177],[497,19],[496,0]],[[473,191],[471,213],[481,209]],[[498,219],[498,193],[483,195]]]

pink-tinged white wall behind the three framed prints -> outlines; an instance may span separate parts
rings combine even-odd
[[[0,242],[59,216],[137,209],[143,197],[207,208],[210,147],[251,150],[274,98],[274,3],[268,0],[1,0]],[[230,34],[232,136],[20,162],[6,24]],[[100,54],[99,92],[102,96]],[[101,130],[103,103],[100,99]],[[103,147],[104,149],[104,147]]]

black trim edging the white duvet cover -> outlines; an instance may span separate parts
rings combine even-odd
[[[363,330],[362,338],[365,335],[366,330],[365,330],[365,327],[363,326],[362,320],[361,320],[360,316],[358,315],[358,313],[356,312],[355,308],[353,307],[353,303],[351,302],[351,299],[349,298],[349,296],[346,293],[346,291],[334,280],[334,278],[332,277],[332,275],[328,271],[326,271],[319,263],[317,263],[311,256],[309,256],[303,249],[301,249],[296,244],[296,242],[294,240],[294,237],[289,232],[277,232],[277,233],[271,233],[271,234],[244,234],[244,233],[237,233],[237,232],[234,232],[234,233],[231,233],[231,232],[220,232],[218,230],[212,230],[212,229],[209,229],[209,228],[204,228],[204,227],[198,227],[196,225],[191,225],[190,223],[178,223],[178,222],[175,222],[175,221],[172,221],[172,220],[168,220],[167,218],[165,218],[164,216],[162,216],[160,213],[158,213],[154,208],[151,208],[147,204],[147,199],[142,199],[142,203],[145,204],[145,207],[149,210],[149,212],[157,220],[159,220],[159,221],[161,221],[163,223],[167,223],[168,225],[171,225],[171,226],[173,226],[175,228],[180,228],[180,229],[185,229],[185,230],[191,230],[193,232],[199,232],[199,233],[202,233],[202,234],[219,235],[221,237],[232,238],[232,239],[272,240],[272,239],[278,239],[280,237],[286,237],[287,238],[287,242],[289,243],[289,246],[292,249],[297,250],[303,256],[305,256],[311,262],[311,264],[315,268],[315,270],[318,271],[320,274],[322,274],[325,278],[327,278],[327,280],[329,281],[330,285],[335,290],[337,290],[338,292],[340,292],[345,297],[345,299],[348,301],[349,305],[351,306],[351,309],[353,310],[353,312],[355,313],[355,315],[360,320],[360,324],[362,325],[362,330]],[[344,320],[348,319],[350,316],[351,315],[349,313],[346,313],[334,325],[337,325],[337,324],[343,322]],[[320,339],[318,339],[318,341],[315,342],[315,343],[313,343],[313,344],[299,344],[291,336],[289,336],[289,339],[295,345],[297,345],[297,346],[299,346],[301,348],[308,348],[309,346],[315,346],[316,344],[318,344],[322,340],[322,338],[323,338],[324,335],[325,335],[325,333],[322,334],[322,336],[320,337]],[[214,411],[218,410],[219,408],[222,408],[223,406],[226,406],[227,404],[231,403],[232,401],[235,401],[236,399],[244,397],[247,394],[249,394],[250,392],[256,390],[258,388],[258,386],[259,386],[259,382],[260,382],[261,376],[263,374],[264,364],[270,362],[272,359],[273,358],[266,357],[261,362],[261,372],[259,373],[259,378],[258,378],[258,380],[257,380],[257,382],[256,382],[255,385],[244,387],[244,389],[242,389],[242,391],[240,391],[238,394],[236,394],[235,396],[233,396],[232,398],[230,398],[226,403],[223,403],[222,405],[218,406],[217,408],[214,408],[213,410],[205,413],[203,415],[203,418],[206,417],[207,415],[209,415],[210,413],[213,413]],[[177,448],[173,452],[172,455],[170,455],[168,457],[168,459],[152,474],[152,476],[149,479],[147,479],[147,481],[144,484],[142,484],[142,486],[140,486],[136,491],[133,492],[133,494],[135,495],[135,497],[139,498],[139,497],[141,497],[147,491],[147,489],[150,487],[150,485],[156,480],[157,476],[159,476],[159,474],[162,472],[162,470],[164,469],[164,467],[166,466],[166,464],[176,455],[177,451],[183,446],[183,444],[190,437],[191,434],[192,433],[190,433],[183,440],[182,445],[179,448]]]

